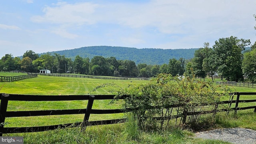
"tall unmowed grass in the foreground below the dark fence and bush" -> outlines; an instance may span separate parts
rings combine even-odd
[[[228,144],[220,140],[196,139],[189,130],[179,128],[143,132],[137,128],[132,129],[131,125],[136,126],[136,121],[133,122],[91,126],[85,132],[80,128],[59,128],[4,136],[24,136],[25,144]]]

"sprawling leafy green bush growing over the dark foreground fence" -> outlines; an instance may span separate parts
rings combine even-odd
[[[176,118],[177,122],[179,117],[182,118],[178,125],[192,126],[199,124],[201,112],[216,110],[220,97],[229,95],[227,89],[220,93],[219,87],[222,88],[195,78],[185,77],[180,80],[171,74],[159,74],[147,84],[120,89],[116,98],[124,97],[124,108],[138,117],[139,125],[145,130],[168,128],[170,120]],[[199,113],[188,116],[186,122],[189,112]]]

